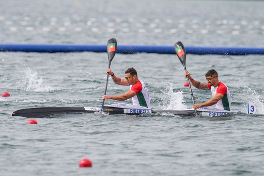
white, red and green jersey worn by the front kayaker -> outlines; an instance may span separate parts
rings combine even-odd
[[[143,81],[138,80],[134,85],[130,86],[130,90],[136,93],[136,95],[132,97],[133,105],[151,108],[150,95]]]

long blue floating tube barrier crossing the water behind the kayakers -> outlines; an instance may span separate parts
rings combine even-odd
[[[264,48],[253,47],[196,47],[185,46],[187,54],[248,55],[264,54]],[[106,45],[80,44],[0,44],[0,51],[10,52],[107,52]],[[117,52],[122,54],[158,53],[175,54],[172,46],[158,45],[117,45]]]

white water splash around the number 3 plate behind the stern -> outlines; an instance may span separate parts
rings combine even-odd
[[[244,102],[244,107],[247,110],[247,102],[252,102],[255,104],[257,109],[257,114],[264,114],[264,100],[263,98],[258,94],[258,92],[252,88],[244,87],[243,88],[243,94],[245,95],[242,97],[242,100]]]

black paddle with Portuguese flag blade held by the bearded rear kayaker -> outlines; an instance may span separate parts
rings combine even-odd
[[[185,51],[184,45],[181,42],[176,42],[176,44],[174,45],[174,49],[175,49],[175,52],[176,52],[181,64],[183,65],[185,72],[186,72],[186,62],[185,62],[186,61],[186,51]],[[193,103],[195,104],[194,95],[193,95],[193,91],[191,88],[190,80],[189,80],[188,76],[186,78],[187,78],[189,88],[191,91]],[[195,115],[197,115],[197,110],[195,110]]]

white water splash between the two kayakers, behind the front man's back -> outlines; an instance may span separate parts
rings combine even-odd
[[[164,97],[162,98],[162,109],[163,110],[183,110],[187,109],[184,105],[184,99],[182,91],[173,92],[173,83],[167,83],[167,90],[163,91]]]

